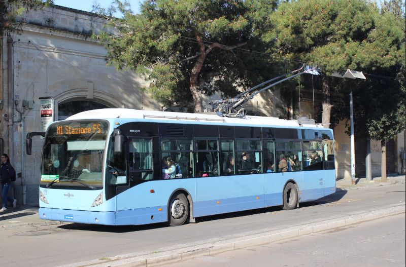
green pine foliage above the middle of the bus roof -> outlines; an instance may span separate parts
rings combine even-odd
[[[271,13],[276,2],[145,1],[140,14],[124,10],[122,19],[111,19],[118,34],[103,32],[94,37],[104,42],[110,64],[137,70],[151,81],[148,90],[155,99],[187,105],[194,74],[198,94],[220,91],[225,95],[272,75],[265,67],[268,57],[246,50],[265,52],[266,44],[258,37],[261,17]]]

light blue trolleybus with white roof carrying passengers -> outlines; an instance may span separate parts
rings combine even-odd
[[[85,111],[49,125],[41,166],[40,217],[78,223],[181,225],[335,192],[332,130],[278,118]]]

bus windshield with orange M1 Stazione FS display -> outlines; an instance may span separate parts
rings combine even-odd
[[[45,137],[42,187],[103,188],[103,159],[109,125],[106,121],[62,121]]]

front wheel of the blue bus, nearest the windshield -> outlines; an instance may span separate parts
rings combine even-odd
[[[189,202],[184,194],[174,195],[169,202],[169,225],[178,226],[186,222],[189,216]]]

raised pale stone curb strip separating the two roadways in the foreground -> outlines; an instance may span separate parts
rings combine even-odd
[[[388,208],[375,211],[360,212],[358,214],[321,220],[288,227],[285,229],[265,230],[261,233],[245,233],[239,236],[229,236],[206,240],[205,243],[189,243],[174,247],[167,247],[161,251],[139,252],[136,254],[118,255],[103,260],[89,260],[63,265],[63,267],[136,267],[136,266],[157,266],[169,263],[175,263],[181,260],[194,258],[200,255],[214,255],[225,251],[241,249],[245,247],[257,246],[277,242],[284,239],[294,238],[312,233],[332,230],[335,228],[345,227],[351,224],[364,221],[375,220],[387,216],[404,213],[405,204],[399,204]]]

